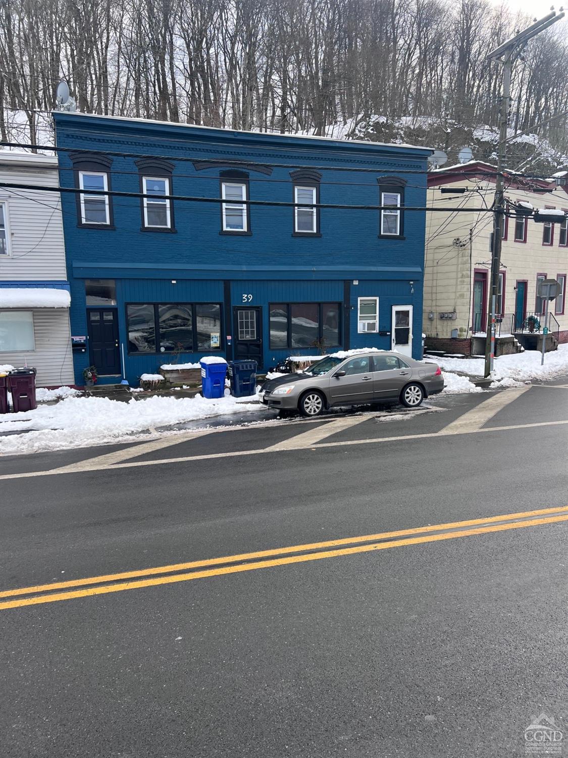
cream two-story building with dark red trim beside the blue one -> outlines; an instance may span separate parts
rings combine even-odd
[[[483,352],[491,296],[494,193],[495,167],[482,161],[429,174],[423,309],[427,349]],[[558,208],[568,214],[568,194],[554,182],[510,174],[505,198],[509,215],[496,308],[498,352],[536,348],[545,327],[550,334],[547,349],[553,349],[558,342],[568,342],[568,215],[563,224],[541,224],[533,220],[531,209]],[[547,317],[537,296],[538,281],[545,278],[562,285]]]

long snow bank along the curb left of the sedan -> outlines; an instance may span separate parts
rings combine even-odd
[[[37,453],[41,450],[87,447],[133,440],[132,435],[154,428],[198,421],[217,415],[258,411],[255,396],[220,399],[149,397],[129,402],[107,397],[67,397],[55,406],[0,416],[0,454]],[[249,401],[249,402],[247,402]],[[8,420],[9,418],[9,420]],[[4,420],[6,419],[6,420]]]

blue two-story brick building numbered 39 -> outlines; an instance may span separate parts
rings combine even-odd
[[[76,384],[89,365],[136,384],[213,353],[265,371],[358,347],[420,357],[425,213],[405,206],[426,205],[429,149],[76,113],[55,127],[61,186],[83,190],[62,193]]]

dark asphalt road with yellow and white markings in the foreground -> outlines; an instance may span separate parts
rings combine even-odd
[[[0,459],[0,753],[568,756],[563,384]]]

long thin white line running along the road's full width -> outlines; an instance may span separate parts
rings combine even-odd
[[[557,426],[560,424],[568,424],[568,418],[563,421],[538,421],[534,424],[511,424],[510,426],[501,426],[501,427],[485,427],[482,429],[467,429],[462,432],[455,432],[454,434],[482,434],[487,432],[498,432],[498,431],[511,431],[513,429],[532,429],[535,427],[545,427],[545,426]],[[442,430],[443,431],[443,430]],[[342,442],[322,442],[319,445],[317,445],[317,449],[323,448],[323,447],[345,447],[347,445],[368,445],[373,443],[382,443],[382,442],[400,442],[401,440],[404,441],[410,441],[410,440],[426,440],[426,439],[435,439],[436,437],[445,437],[449,435],[442,434],[442,432],[433,432],[430,434],[401,434],[398,437],[375,437],[370,440],[347,440]],[[298,449],[310,449],[313,447],[313,445],[306,445],[302,448]],[[22,474],[3,474],[0,475],[0,481],[4,479],[26,479],[31,477],[38,477],[38,476],[51,476],[53,474],[71,474],[76,473],[80,471],[113,471],[114,469],[118,468],[137,468],[140,466],[156,466],[156,465],[162,465],[164,463],[190,463],[192,461],[205,461],[210,459],[219,459],[219,458],[236,458],[238,456],[260,456],[263,453],[267,452],[273,452],[276,453],[277,450],[275,448],[262,448],[258,450],[232,450],[229,453],[208,453],[202,456],[183,456],[182,458],[165,458],[160,459],[157,461],[131,461],[126,463],[117,463],[113,466],[99,466],[98,468],[68,468],[66,470],[58,469],[58,468],[51,468],[48,471],[28,471],[24,472]]]

